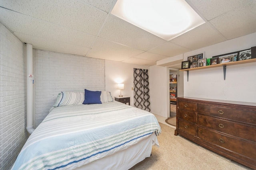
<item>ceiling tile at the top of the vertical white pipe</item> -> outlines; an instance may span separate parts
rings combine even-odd
[[[59,53],[68,53],[68,54],[75,54],[75,55],[83,55],[85,56],[89,48],[62,43],[59,41],[53,41],[49,39],[44,39],[41,37],[33,37],[28,36],[22,33],[14,32],[14,35],[20,38],[20,40],[24,43],[31,43],[34,49],[41,49],[41,50],[48,50],[48,51],[55,51]]]

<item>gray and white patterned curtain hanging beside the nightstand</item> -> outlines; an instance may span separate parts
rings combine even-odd
[[[148,70],[134,68],[134,107],[150,111]]]

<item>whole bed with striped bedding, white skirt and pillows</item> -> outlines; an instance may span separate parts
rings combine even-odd
[[[129,169],[149,157],[152,146],[159,145],[156,117],[114,101],[109,92],[96,92],[100,96],[92,104],[85,104],[86,96],[94,98],[87,91],[85,96],[61,92],[12,169]]]

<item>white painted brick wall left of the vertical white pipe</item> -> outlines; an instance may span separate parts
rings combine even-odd
[[[0,169],[26,142],[26,46],[0,23]]]

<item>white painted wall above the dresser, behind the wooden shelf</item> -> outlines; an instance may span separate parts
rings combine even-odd
[[[184,61],[200,52],[205,52],[206,58],[212,58],[254,46],[256,33],[184,53]],[[226,80],[222,67],[190,71],[188,82],[187,73],[183,74],[184,96],[256,103],[256,63],[227,66]]]

